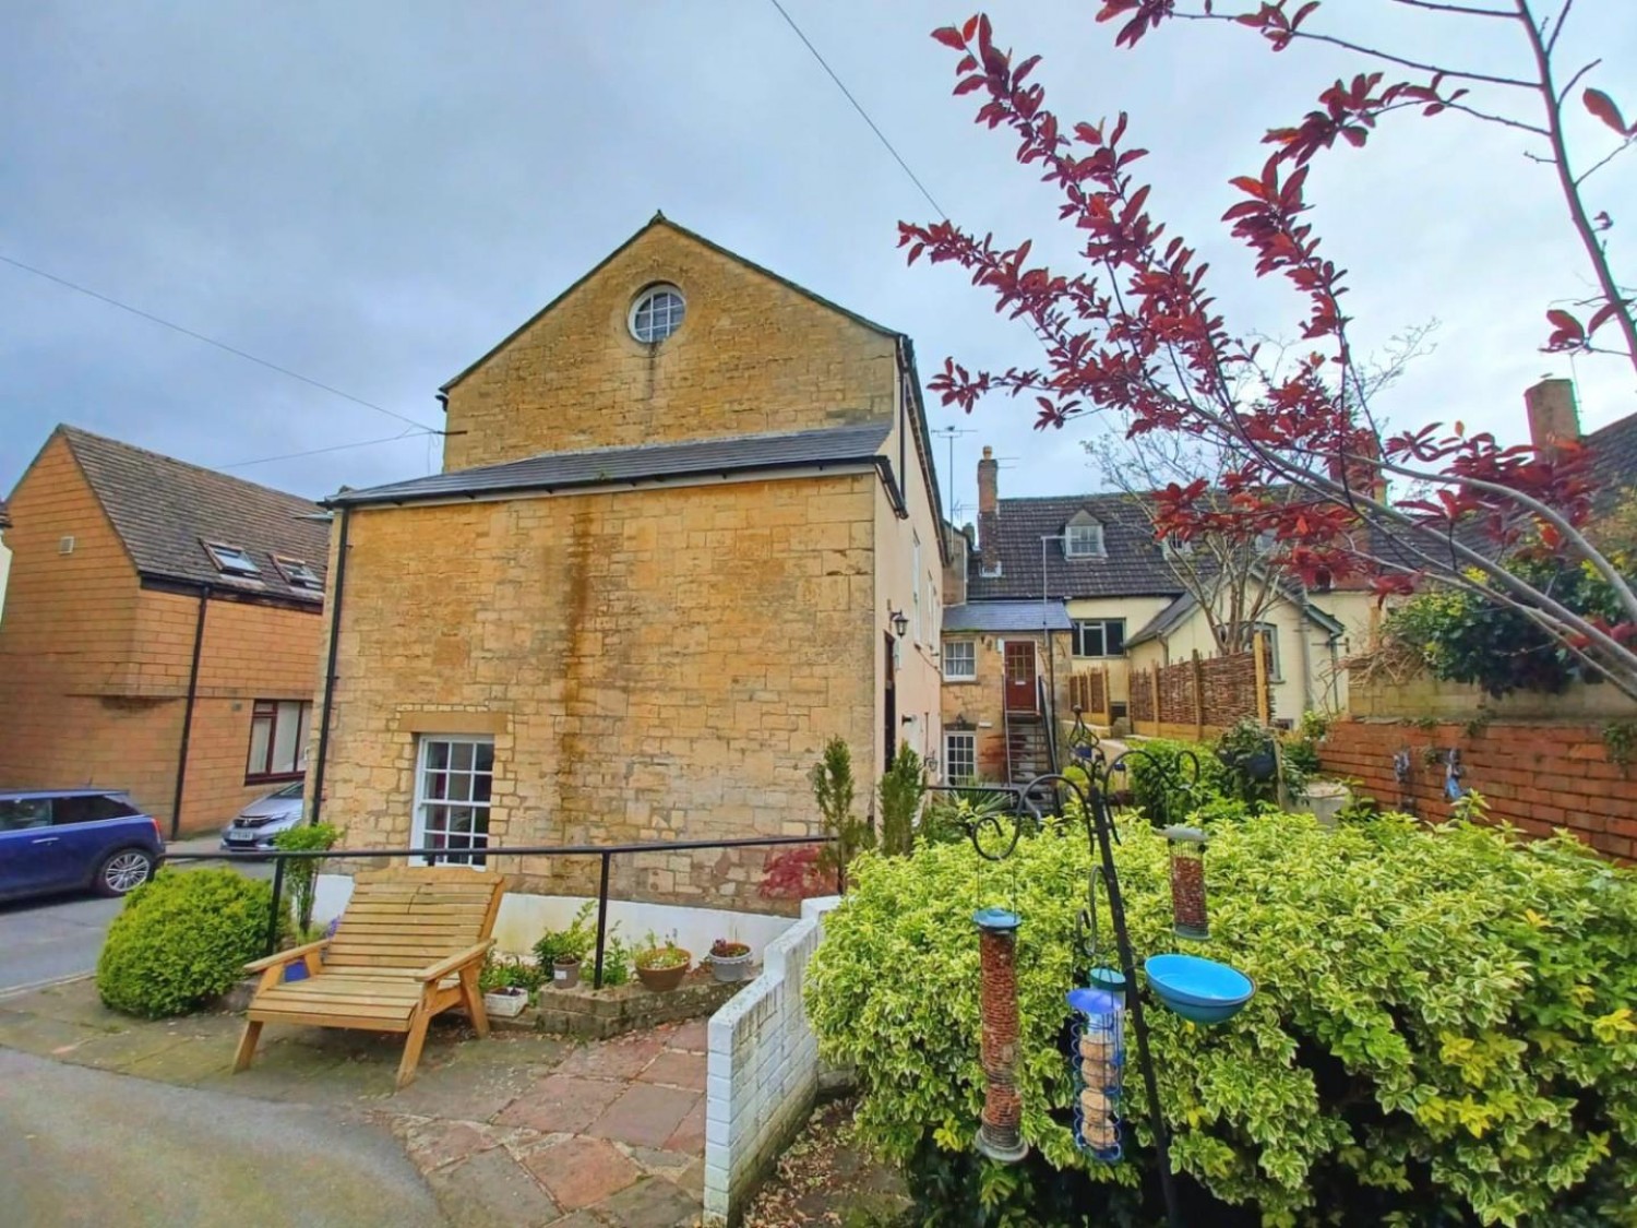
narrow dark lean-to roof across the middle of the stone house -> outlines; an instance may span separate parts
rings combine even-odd
[[[818,431],[691,439],[679,444],[545,452],[504,465],[483,465],[481,468],[395,481],[386,486],[340,491],[326,499],[326,506],[417,503],[422,499],[476,498],[480,494],[617,486],[665,478],[710,478],[781,468],[856,465],[874,462],[891,432],[891,422],[864,422]]]

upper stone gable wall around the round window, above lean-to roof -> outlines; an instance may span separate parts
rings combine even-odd
[[[674,287],[681,323],[634,336]],[[444,470],[891,421],[899,334],[655,218],[445,385]]]

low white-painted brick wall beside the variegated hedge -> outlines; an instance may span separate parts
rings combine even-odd
[[[763,973],[710,1017],[706,1087],[706,1223],[728,1223],[751,1182],[800,1130],[818,1094],[818,1040],[802,977],[838,896],[802,904],[769,943]]]

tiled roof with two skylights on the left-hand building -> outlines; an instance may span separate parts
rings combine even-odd
[[[277,553],[324,575],[329,526],[301,519],[322,514],[316,503],[79,427],[57,434],[144,576],[322,603],[322,593],[291,585],[273,563]],[[223,573],[205,542],[247,550],[259,575]]]

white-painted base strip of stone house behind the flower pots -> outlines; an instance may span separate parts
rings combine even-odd
[[[314,891],[313,920],[327,925],[339,917],[352,897],[350,874],[319,874]],[[583,896],[522,896],[506,892],[501,899],[501,915],[494,922],[494,945],[503,951],[527,955],[542,933],[561,930],[588,901]],[[596,928],[596,901],[591,925]],[[668,938],[688,948],[694,959],[710,951],[717,938],[750,943],[755,955],[796,922],[791,917],[769,917],[763,912],[728,912],[727,909],[689,909],[679,904],[637,904],[609,901],[609,932],[619,927],[625,946],[640,945],[648,930],[656,938]],[[588,969],[589,971],[589,969]]]

